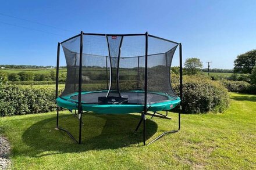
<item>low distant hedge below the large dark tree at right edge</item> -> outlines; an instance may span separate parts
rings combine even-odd
[[[256,94],[256,86],[245,81],[221,81],[229,92]]]

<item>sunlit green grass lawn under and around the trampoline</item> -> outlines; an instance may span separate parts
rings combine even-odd
[[[183,114],[180,132],[143,146],[140,116],[83,116],[83,144],[55,130],[56,113],[0,118],[12,146],[13,169],[256,169],[256,96],[230,93],[223,114]],[[147,142],[175,129],[173,120],[147,117]],[[62,111],[60,125],[77,138],[77,118]]]

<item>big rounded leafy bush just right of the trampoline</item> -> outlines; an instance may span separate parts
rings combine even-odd
[[[172,76],[173,89],[179,94],[179,78]],[[183,77],[183,110],[185,113],[223,112],[229,107],[224,86],[204,75]]]

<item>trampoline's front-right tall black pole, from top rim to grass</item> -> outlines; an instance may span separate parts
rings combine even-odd
[[[144,111],[143,111],[143,144],[145,145],[146,139],[146,117],[147,114],[147,91],[148,91],[148,32],[145,33],[145,80],[144,80]]]

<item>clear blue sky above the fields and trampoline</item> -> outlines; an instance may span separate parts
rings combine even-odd
[[[230,69],[237,55],[256,49],[255,8],[254,0],[1,1],[0,64],[55,66],[58,42],[80,31],[148,31],[181,42],[183,61],[197,57],[204,67]]]

